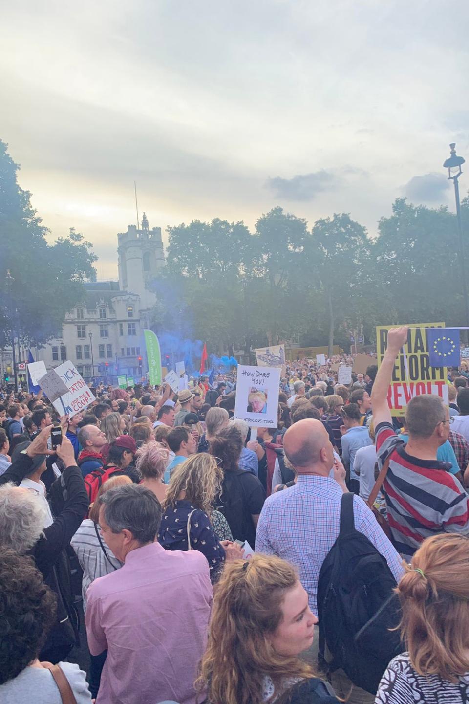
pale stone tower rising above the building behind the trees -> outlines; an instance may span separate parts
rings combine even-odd
[[[141,309],[147,310],[156,301],[155,294],[147,288],[148,284],[165,266],[161,227],[149,230],[143,213],[141,230],[137,230],[136,225],[128,225],[127,232],[117,235],[117,241],[120,289],[140,296]]]

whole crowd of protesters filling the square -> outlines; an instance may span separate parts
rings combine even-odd
[[[406,337],[290,363],[256,432],[234,368],[72,417],[4,389],[0,702],[469,700],[469,371],[392,417]]]

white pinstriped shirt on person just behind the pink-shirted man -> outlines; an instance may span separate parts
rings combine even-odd
[[[82,521],[82,524],[70,541],[72,548],[75,550],[75,553],[77,553],[80,567],[83,570],[82,596],[84,612],[86,611],[86,591],[88,591],[91,582],[94,582],[98,577],[103,577],[105,574],[115,572],[119,567],[122,567],[122,562],[117,560],[115,555],[111,553],[102,538],[101,541],[103,542],[106,555],[109,558],[108,560],[106,560],[103,548],[101,548],[98,541],[94,522],[89,518],[85,518],[84,521]]]

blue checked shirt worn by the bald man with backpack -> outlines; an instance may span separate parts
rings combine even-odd
[[[314,614],[319,572],[340,531],[341,501],[342,489],[335,479],[300,474],[295,486],[266,498],[257,524],[255,551],[278,555],[297,567]],[[354,519],[356,530],[386,558],[399,582],[402,560],[359,496],[354,496]]]

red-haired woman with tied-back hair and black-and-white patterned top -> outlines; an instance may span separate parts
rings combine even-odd
[[[377,704],[469,701],[469,539],[423,541],[397,586],[407,652],[391,660]]]

